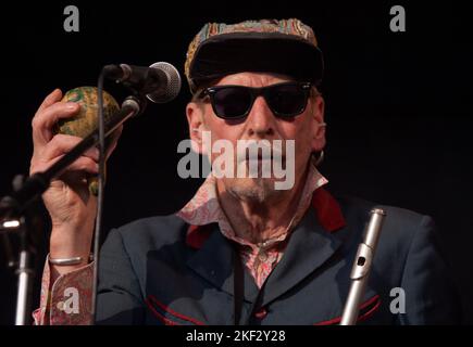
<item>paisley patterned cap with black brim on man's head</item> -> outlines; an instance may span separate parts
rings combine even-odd
[[[323,69],[312,28],[296,18],[208,23],[190,42],[185,63],[192,93],[240,72],[277,73],[318,85]]]

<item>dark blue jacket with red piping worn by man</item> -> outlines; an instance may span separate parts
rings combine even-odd
[[[351,197],[338,204],[345,227],[327,231],[320,211],[309,208],[262,293],[244,270],[241,324],[339,323],[356,252],[375,205]],[[376,206],[387,217],[359,323],[458,323],[457,292],[437,253],[433,220]],[[234,324],[232,242],[215,223],[198,245],[190,244],[188,229],[178,217],[166,216],[111,231],[100,257],[98,323]],[[391,312],[393,307],[398,310]]]

